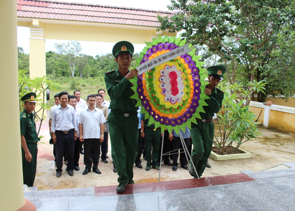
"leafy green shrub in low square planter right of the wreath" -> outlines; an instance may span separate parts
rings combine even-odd
[[[218,157],[212,152],[210,157],[214,160],[228,160],[237,158],[251,157],[251,153],[244,150],[239,150],[240,145],[246,141],[257,138],[261,135],[258,132],[258,122],[254,112],[250,111],[250,106],[245,105],[250,100],[250,96],[255,92],[263,92],[266,83],[263,81],[253,83],[249,82],[247,89],[242,87],[242,84],[233,83],[229,86],[222,84],[221,88],[224,91],[224,99],[222,102],[224,114],[219,111],[217,114],[218,133],[214,134],[214,145],[212,151],[216,151],[219,155],[227,155],[223,158]],[[235,144],[235,145],[233,145]],[[237,152],[244,155],[233,156]]]

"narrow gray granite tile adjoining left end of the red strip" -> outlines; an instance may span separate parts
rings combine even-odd
[[[34,202],[85,198],[94,196],[95,193],[93,187],[24,192],[24,197],[29,201]]]

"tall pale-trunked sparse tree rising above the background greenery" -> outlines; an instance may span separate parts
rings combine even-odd
[[[72,76],[74,77],[75,66],[78,60],[77,55],[82,50],[80,42],[71,41],[71,42],[68,42],[66,45],[65,43],[62,43],[62,44],[55,43],[54,47],[58,50],[59,55],[65,55],[65,60],[69,63]]]

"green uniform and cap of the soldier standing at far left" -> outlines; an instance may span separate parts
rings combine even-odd
[[[28,98],[29,97],[29,98]],[[34,98],[31,98],[34,97]],[[34,102],[36,94],[28,93],[22,97],[24,102]],[[36,102],[36,101],[35,101]],[[37,142],[40,140],[37,136],[36,123],[34,121],[34,113],[27,112],[25,109],[20,113],[20,134],[24,135],[32,160],[28,162],[25,157],[24,149],[22,148],[22,173],[24,184],[28,187],[33,187],[36,168],[37,168]]]

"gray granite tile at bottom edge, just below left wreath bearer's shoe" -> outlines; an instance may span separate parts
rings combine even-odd
[[[130,207],[124,195],[69,199],[69,211],[127,211]]]

